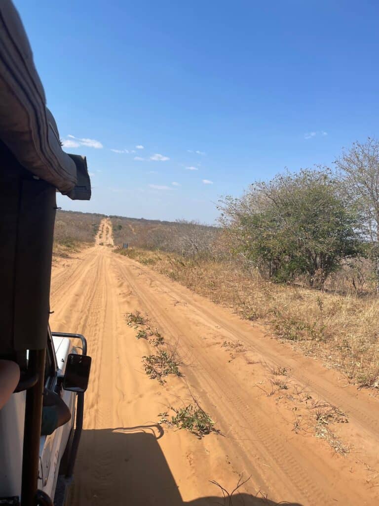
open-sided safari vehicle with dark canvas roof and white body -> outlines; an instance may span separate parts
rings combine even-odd
[[[0,504],[58,504],[74,469],[90,358],[49,328],[56,192],[88,200],[62,150],[19,15],[0,2]],[[62,492],[63,491],[63,492]],[[62,493],[61,493],[62,492]],[[61,501],[62,502],[62,501]]]

